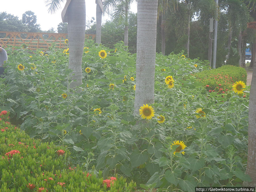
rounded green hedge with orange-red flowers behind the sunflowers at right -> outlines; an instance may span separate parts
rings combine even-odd
[[[203,83],[207,91],[214,90],[218,93],[232,90],[232,85],[236,81],[243,81],[246,84],[247,79],[246,70],[233,65],[223,65],[217,69],[201,71],[194,73],[193,76]]]

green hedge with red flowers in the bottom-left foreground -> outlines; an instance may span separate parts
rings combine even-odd
[[[0,191],[135,191],[136,183],[123,177],[103,181],[101,171],[96,176],[70,166],[69,150],[31,139],[8,120],[1,113]]]

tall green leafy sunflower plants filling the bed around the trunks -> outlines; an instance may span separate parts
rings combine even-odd
[[[65,51],[51,47],[44,55],[40,50],[30,55],[26,49],[13,50],[0,79],[1,109],[10,111],[12,121],[17,117],[31,137],[67,146],[70,162],[85,170],[95,166],[104,178],[122,174],[138,186],[167,191],[239,186],[249,179],[244,174],[248,97],[207,92],[191,75],[208,69],[207,61],[183,53],[156,54],[155,103],[150,104],[155,116],[143,120],[133,115],[136,55],[121,43],[116,51],[90,40],[85,46],[80,93],[67,88],[71,71]],[[105,59],[98,55],[102,49]],[[24,71],[18,71],[19,64]],[[169,75],[173,88],[165,83]],[[158,123],[160,115],[163,123]],[[185,154],[173,154],[176,140],[187,146]]]

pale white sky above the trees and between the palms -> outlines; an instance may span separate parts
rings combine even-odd
[[[41,30],[47,31],[53,27],[54,30],[57,31],[58,24],[62,22],[61,11],[64,8],[65,3],[61,3],[61,8],[54,14],[50,14],[48,13],[48,7],[46,7],[45,0],[1,0],[0,12],[18,16],[21,20],[23,13],[26,11],[33,11],[36,15],[36,23],[40,24]],[[92,17],[96,19],[95,0],[85,0],[85,4],[86,21],[90,20]],[[137,3],[132,3],[130,11],[137,13]],[[106,22],[107,19],[109,19],[109,17],[108,15],[105,15],[102,17],[102,22]]]

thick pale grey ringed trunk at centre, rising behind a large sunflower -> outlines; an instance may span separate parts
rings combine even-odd
[[[137,59],[134,114],[143,104],[154,103],[156,19],[158,0],[138,0]]]

